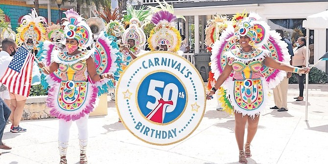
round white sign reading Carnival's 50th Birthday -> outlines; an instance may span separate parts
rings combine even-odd
[[[138,139],[168,145],[186,139],[205,112],[203,80],[185,58],[154,51],[133,60],[120,75],[116,107]]]

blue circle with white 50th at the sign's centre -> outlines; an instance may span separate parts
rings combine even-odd
[[[167,72],[149,74],[138,90],[138,105],[143,116],[153,122],[168,123],[185,110],[187,94],[179,79]]]

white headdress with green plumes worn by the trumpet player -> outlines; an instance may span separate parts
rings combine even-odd
[[[148,17],[149,13],[150,11],[144,10],[144,7],[136,10],[132,5],[126,6],[126,15],[124,15],[123,21],[129,27],[123,33],[123,44],[127,44],[129,39],[133,39],[137,47],[141,47],[146,43],[146,36],[141,29],[141,22]]]

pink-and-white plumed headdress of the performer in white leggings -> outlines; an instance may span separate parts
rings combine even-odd
[[[69,39],[76,39],[78,47],[87,48],[94,42],[92,31],[84,19],[73,9],[64,12],[67,17],[67,22],[63,23],[65,37]]]

